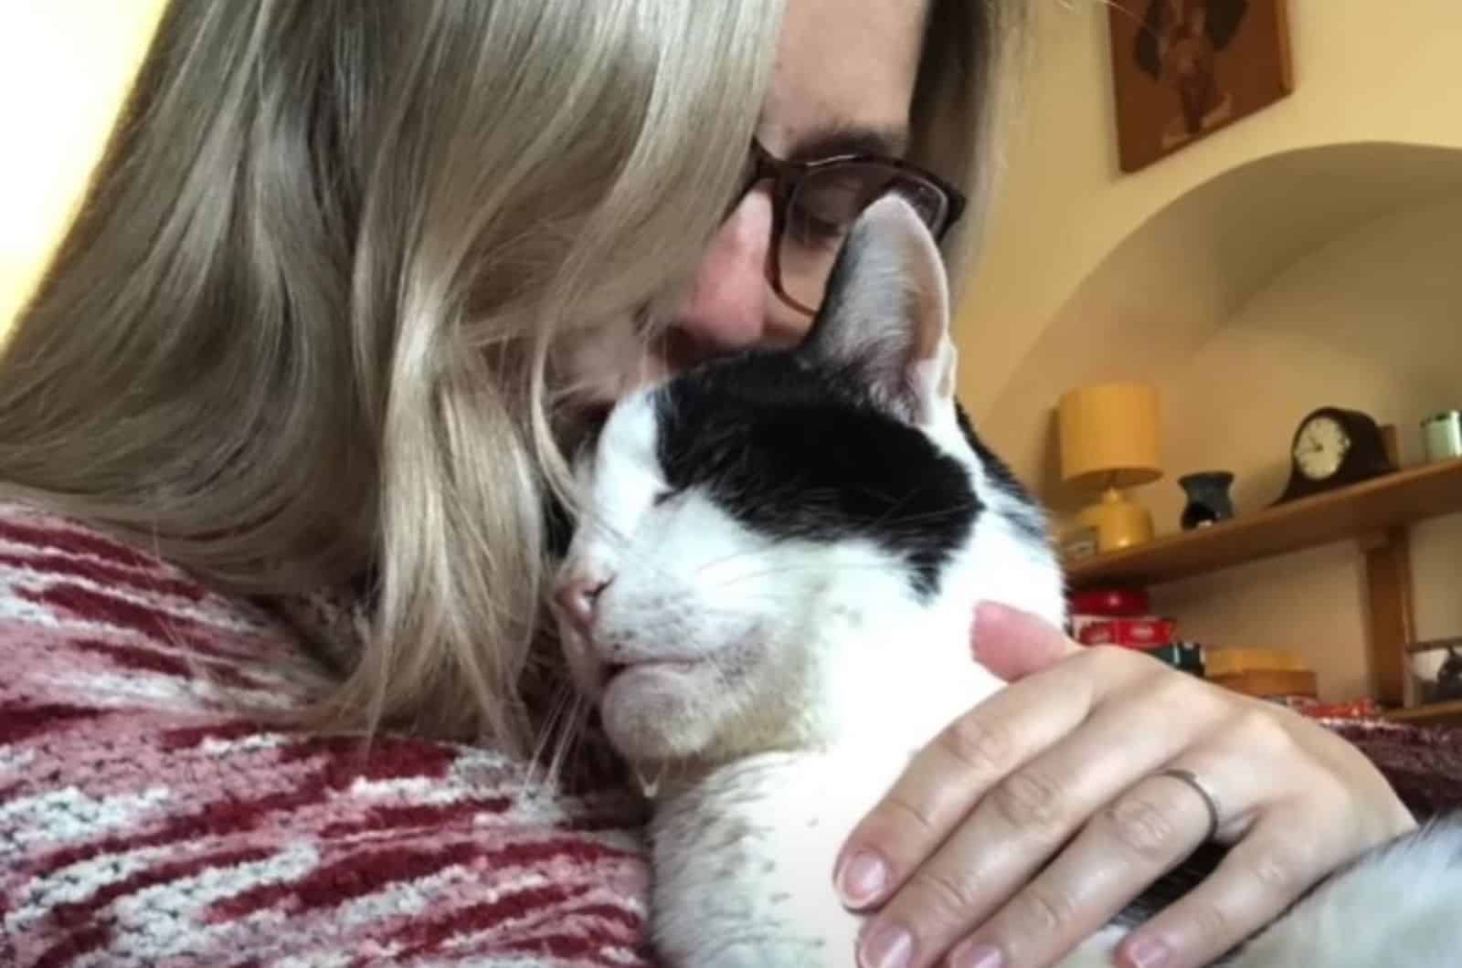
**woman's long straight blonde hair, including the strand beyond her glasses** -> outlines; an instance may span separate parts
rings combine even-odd
[[[915,155],[981,193],[999,7],[937,0],[915,111]],[[690,272],[779,20],[173,3],[0,361],[7,491],[235,592],[373,567],[364,652],[304,718],[528,752],[550,351]]]

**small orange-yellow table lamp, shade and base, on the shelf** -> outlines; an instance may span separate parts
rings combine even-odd
[[[1077,513],[1076,525],[1096,532],[1098,551],[1152,540],[1152,515],[1123,488],[1162,477],[1158,464],[1158,390],[1145,383],[1099,383],[1061,396],[1061,480],[1099,487],[1101,499]]]

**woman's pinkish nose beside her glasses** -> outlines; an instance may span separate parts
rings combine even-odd
[[[747,193],[711,240],[696,269],[677,328],[708,354],[744,349],[766,339],[766,253],[772,199]]]

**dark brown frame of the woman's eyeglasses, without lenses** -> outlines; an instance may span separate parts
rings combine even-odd
[[[763,148],[762,142],[753,139],[749,164],[750,171],[747,173],[746,181],[741,184],[741,190],[737,193],[735,200],[727,212],[730,213],[735,209],[735,206],[741,203],[741,199],[744,199],[751,189],[760,183],[772,183],[772,238],[766,250],[766,281],[770,284],[772,291],[776,292],[779,300],[798,313],[804,313],[807,316],[816,316],[817,310],[800,303],[795,297],[788,294],[787,287],[782,285],[782,235],[787,230],[787,211],[791,206],[792,199],[797,197],[797,192],[801,189],[803,181],[808,175],[826,173],[830,168],[836,170],[844,165],[858,165],[861,168],[887,168],[890,174],[898,175],[899,178],[923,183],[925,187],[933,189],[944,199],[943,216],[937,224],[928,225],[928,230],[934,235],[936,241],[943,241],[949,230],[959,221],[959,216],[965,213],[965,206],[968,205],[963,192],[944,178],[940,178],[933,171],[921,168],[911,161],[892,158],[889,155],[852,152],[844,155],[829,155],[813,161],[785,161]],[[924,221],[928,224],[928,219]]]

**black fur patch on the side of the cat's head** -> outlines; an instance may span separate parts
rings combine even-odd
[[[982,509],[968,469],[836,373],[792,352],[706,364],[656,393],[658,461],[772,538],[864,538],[921,598]]]

